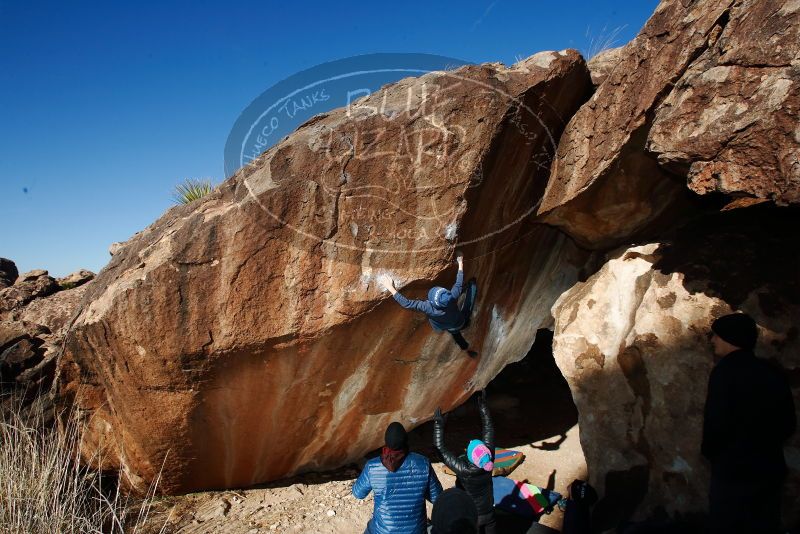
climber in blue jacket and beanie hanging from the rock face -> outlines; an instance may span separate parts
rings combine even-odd
[[[428,316],[428,322],[434,330],[447,330],[461,350],[467,351],[470,356],[476,356],[477,352],[469,350],[469,343],[461,335],[461,331],[469,326],[478,287],[474,278],[467,282],[464,304],[459,307],[458,297],[461,295],[461,289],[464,284],[464,256],[459,253],[456,256],[456,261],[458,262],[456,283],[453,284],[450,290],[439,286],[432,287],[428,291],[427,300],[407,299],[395,289],[394,281],[388,275],[382,275],[378,281],[389,290],[398,304],[408,310],[417,310],[424,313]]]

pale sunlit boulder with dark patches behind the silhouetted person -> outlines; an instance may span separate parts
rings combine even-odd
[[[736,210],[667,243],[620,250],[553,307],[554,355],[578,407],[590,481],[611,528],[658,509],[706,509],[700,455],[711,322],[743,310],[758,322],[757,353],[792,378],[800,408],[800,239],[796,210]],[[758,221],[759,224],[754,224]],[[800,519],[800,435],[787,444],[787,524]]]

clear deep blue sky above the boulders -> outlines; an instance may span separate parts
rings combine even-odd
[[[622,28],[655,0],[0,1],[0,256],[99,271],[185,178],[224,178],[239,113],[274,83],[355,54],[511,64]]]

